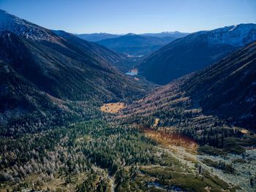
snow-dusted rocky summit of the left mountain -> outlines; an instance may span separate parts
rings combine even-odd
[[[28,39],[37,41],[52,39],[52,32],[47,28],[23,20],[0,9],[0,32],[10,31]]]

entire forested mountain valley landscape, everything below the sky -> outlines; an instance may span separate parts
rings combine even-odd
[[[256,24],[70,34],[0,10],[0,191],[256,191]]]

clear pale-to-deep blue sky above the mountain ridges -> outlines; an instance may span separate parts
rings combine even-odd
[[[256,23],[256,0],[0,0],[0,9],[72,33],[193,32]]]

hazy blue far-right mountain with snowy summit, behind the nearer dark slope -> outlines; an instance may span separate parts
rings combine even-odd
[[[255,24],[199,31],[176,39],[149,55],[140,64],[140,72],[147,80],[164,85],[189,72],[214,64],[255,39]]]

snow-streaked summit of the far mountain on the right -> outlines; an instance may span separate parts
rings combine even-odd
[[[217,28],[206,33],[209,45],[241,47],[256,40],[256,24],[240,24]]]

